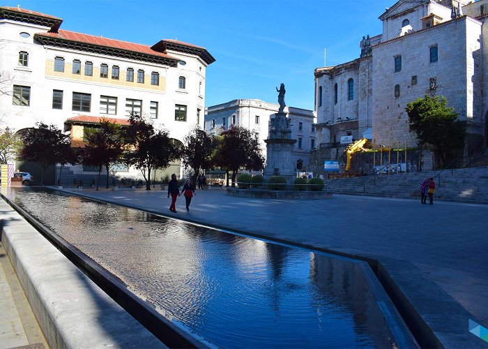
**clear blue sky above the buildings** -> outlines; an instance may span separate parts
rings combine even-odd
[[[0,2],[63,18],[61,29],[153,45],[162,38],[206,47],[206,106],[236,98],[313,109],[314,68],[359,57],[360,39],[381,33],[394,0],[19,0]]]

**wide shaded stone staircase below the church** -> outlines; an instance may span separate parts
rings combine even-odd
[[[420,200],[420,183],[425,178],[435,177],[434,200],[488,204],[488,166],[445,170],[438,174],[439,171],[381,174],[326,179],[325,183],[328,190],[338,194]]]

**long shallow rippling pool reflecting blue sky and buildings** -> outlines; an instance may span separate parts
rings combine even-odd
[[[223,348],[392,347],[363,267],[41,188],[13,202]]]

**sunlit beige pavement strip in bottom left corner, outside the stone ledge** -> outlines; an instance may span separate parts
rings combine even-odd
[[[0,243],[0,348],[49,348]]]

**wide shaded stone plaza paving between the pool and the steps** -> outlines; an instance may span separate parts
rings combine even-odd
[[[329,200],[235,198],[197,191],[177,214],[161,190],[79,194],[220,228],[376,260],[409,261],[488,327],[488,205],[333,195]],[[466,323],[467,329],[467,323]],[[463,329],[465,330],[465,329]],[[482,342],[482,341],[481,341]]]

